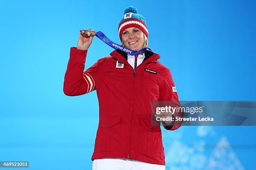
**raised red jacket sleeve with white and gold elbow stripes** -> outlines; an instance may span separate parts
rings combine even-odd
[[[68,96],[83,95],[96,89],[95,77],[99,70],[99,60],[84,72],[87,50],[70,48],[70,57],[64,77],[63,92]]]

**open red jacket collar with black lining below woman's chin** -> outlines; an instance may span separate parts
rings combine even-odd
[[[146,63],[154,61],[154,60],[158,60],[160,58],[159,54],[156,54],[156,53],[148,51],[148,50],[145,51],[144,53],[145,53],[145,58],[144,58],[143,62],[146,62]],[[111,52],[110,55],[112,57],[115,57],[117,60],[120,60],[124,64],[128,64],[127,54],[125,52],[117,49],[117,50],[114,50],[113,52]]]

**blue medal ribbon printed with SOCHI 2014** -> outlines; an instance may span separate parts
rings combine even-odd
[[[142,52],[145,52],[146,50],[152,51],[151,48],[142,48],[139,51],[133,51],[130,48],[124,47],[122,45],[116,44],[115,42],[111,41],[105,34],[103,34],[103,32],[99,31],[96,32],[96,37],[100,38],[100,40],[102,40],[103,42],[105,42],[106,44],[108,44],[110,47],[114,48],[114,49],[118,49],[121,50],[127,54],[130,55],[137,55],[140,54]]]

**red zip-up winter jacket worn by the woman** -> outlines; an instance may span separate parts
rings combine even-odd
[[[76,96],[97,89],[100,120],[92,160],[125,158],[165,165],[161,128],[150,122],[151,101],[178,101],[178,95],[170,70],[157,61],[160,56],[146,51],[133,70],[127,55],[115,50],[84,72],[86,55],[87,50],[71,47],[63,90]],[[176,130],[180,125],[174,121],[164,128]]]

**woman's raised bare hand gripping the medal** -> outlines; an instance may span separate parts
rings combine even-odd
[[[87,28],[87,31],[91,31],[90,28]],[[95,30],[92,30],[92,32],[95,32]],[[88,36],[87,34],[82,35],[82,32],[80,32],[78,41],[77,41],[77,49],[78,50],[88,50],[90,45],[92,44],[92,38],[94,35]]]

